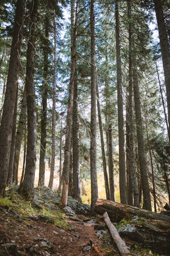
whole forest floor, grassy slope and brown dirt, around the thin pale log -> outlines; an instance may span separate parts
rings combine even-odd
[[[103,218],[35,209],[17,193],[0,198],[0,256],[119,255]],[[131,255],[154,255],[125,240]]]

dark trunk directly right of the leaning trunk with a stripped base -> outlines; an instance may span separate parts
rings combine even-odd
[[[74,79],[74,102],[73,102],[73,186],[71,195],[79,202],[81,199],[80,190],[80,169],[79,169],[79,118],[78,118],[78,93],[77,93],[77,76]]]

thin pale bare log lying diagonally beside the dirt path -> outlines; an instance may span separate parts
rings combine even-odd
[[[121,239],[121,237],[119,236],[119,233],[117,232],[116,227],[113,225],[113,223],[111,223],[107,212],[105,212],[103,214],[103,218],[104,218],[105,224],[108,227],[108,230],[111,233],[111,237],[113,238],[114,242],[116,243],[116,246],[119,250],[120,255],[121,256],[130,255],[130,251],[127,249],[125,241],[123,241]]]

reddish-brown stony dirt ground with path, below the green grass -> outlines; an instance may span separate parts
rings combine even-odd
[[[0,256],[105,256],[105,239],[99,239],[94,223],[85,216],[79,221],[66,217],[68,229],[40,220],[21,220],[14,212],[0,207]],[[93,221],[92,221],[93,222]],[[100,237],[101,238],[101,237]],[[115,251],[114,255],[118,255]]]

